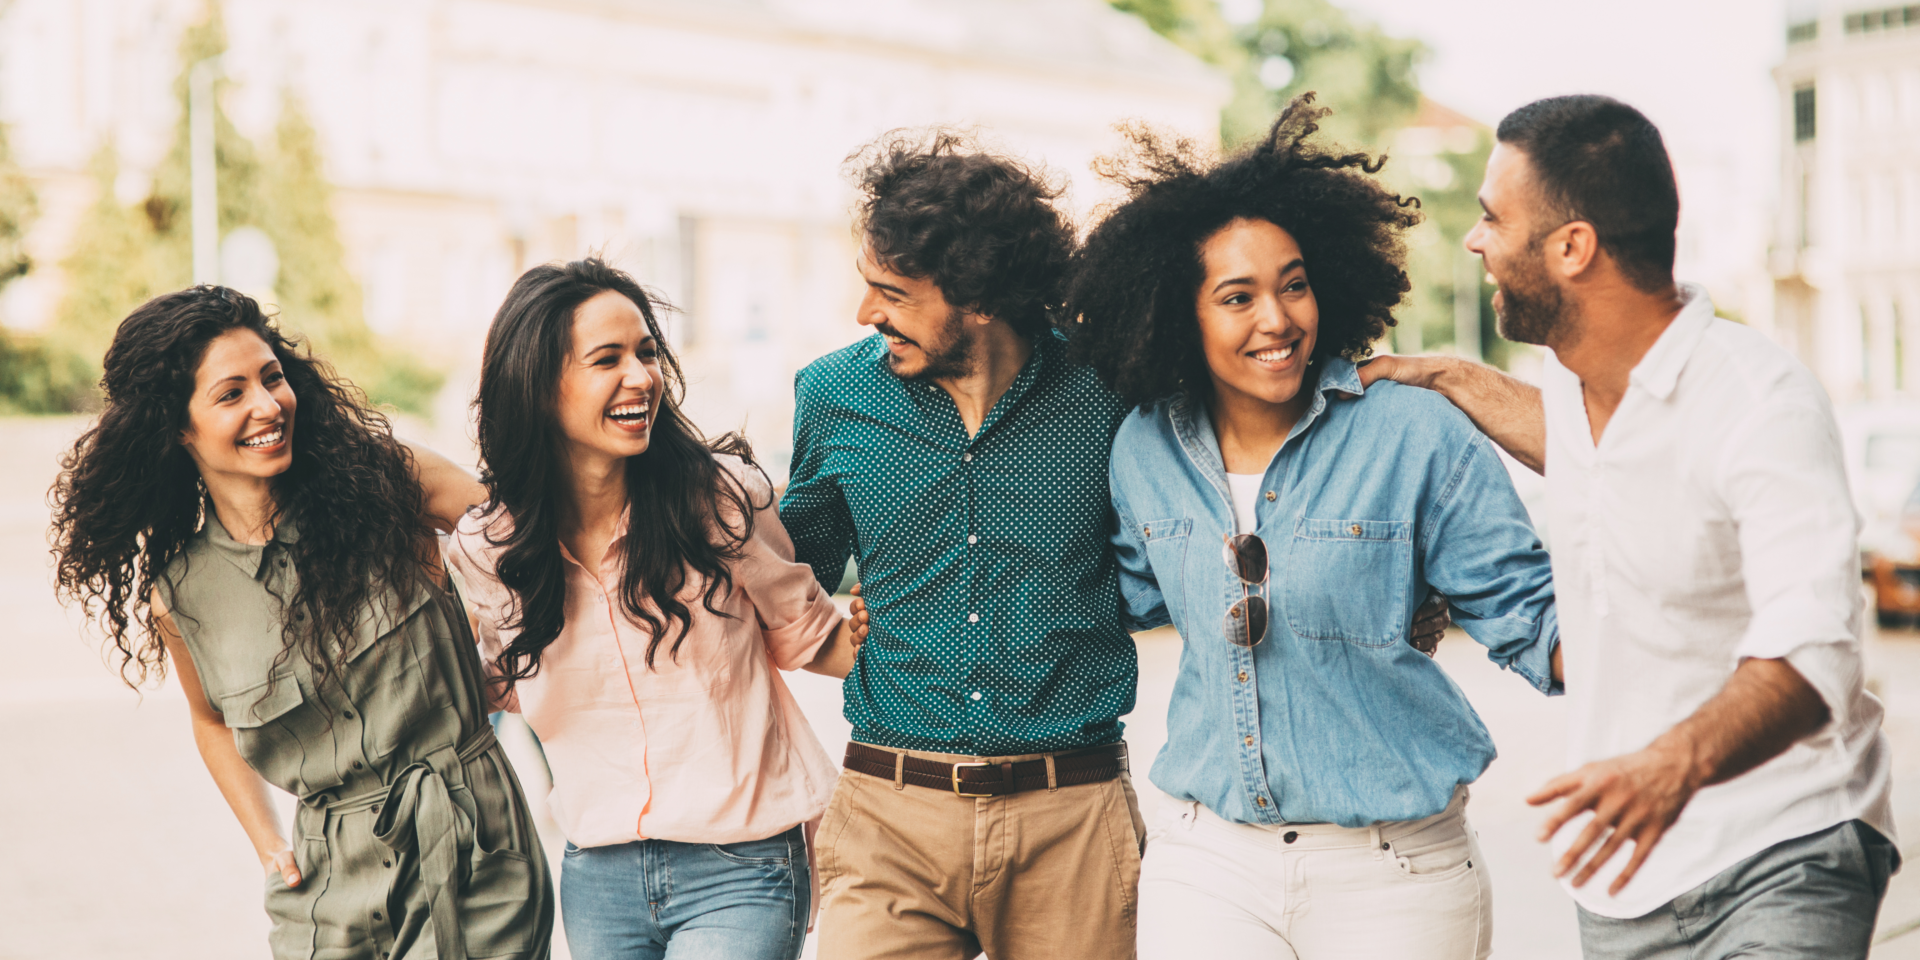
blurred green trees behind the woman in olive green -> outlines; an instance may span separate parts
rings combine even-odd
[[[38,336],[0,334],[0,411],[61,413],[98,405],[100,357],[119,321],[148,298],[192,282],[186,75],[194,63],[225,50],[219,4],[207,4],[205,17],[180,40],[180,73],[173,84],[180,115],[173,148],[154,171],[144,200],[132,205],[119,200],[111,144],[94,156],[98,194],[61,261],[67,290],[54,323]],[[271,288],[246,294],[276,307],[282,330],[305,338],[376,403],[426,415],[444,372],[382,344],[367,326],[361,290],[348,273],[332,217],[332,186],[319,138],[303,106],[284,94],[273,142],[259,148],[221,109],[223,84],[215,81],[213,117],[221,234],[259,230],[278,261]],[[19,240],[33,213],[31,184],[0,138],[0,286],[31,269]]]

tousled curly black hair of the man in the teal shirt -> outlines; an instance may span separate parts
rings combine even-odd
[[[947,303],[1046,330],[1060,307],[1073,227],[1044,171],[954,131],[893,131],[847,157],[856,227],[889,271],[931,278]]]

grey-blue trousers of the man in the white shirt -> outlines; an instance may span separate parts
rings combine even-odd
[[[1901,854],[1849,820],[1776,843],[1634,920],[1580,910],[1586,960],[1860,958]]]

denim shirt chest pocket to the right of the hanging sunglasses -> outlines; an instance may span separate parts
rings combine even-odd
[[[1413,572],[1411,520],[1300,518],[1286,564],[1275,566],[1286,628],[1304,639],[1398,643]]]

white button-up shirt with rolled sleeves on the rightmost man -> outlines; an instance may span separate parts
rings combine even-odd
[[[1580,378],[1542,384],[1548,524],[1580,764],[1634,753],[1713,699],[1747,657],[1786,659],[1832,722],[1701,789],[1619,897],[1626,845],[1569,893],[1644,916],[1776,843],[1864,820],[1893,837],[1880,701],[1860,685],[1859,516],[1826,392],[1699,286],[1634,367],[1599,444]],[[1576,818],[1555,851],[1586,826]],[[1571,874],[1569,874],[1571,876]]]

